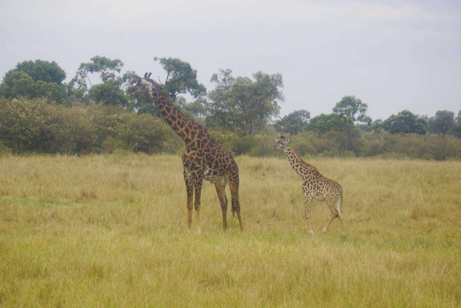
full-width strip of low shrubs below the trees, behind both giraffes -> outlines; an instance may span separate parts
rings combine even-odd
[[[272,150],[280,133],[274,125],[252,136],[231,130],[210,129],[210,134],[235,155],[283,155]],[[289,136],[289,135],[287,135]],[[354,128],[325,133],[303,131],[290,136],[290,145],[301,155],[460,159],[461,139],[452,135],[391,134],[384,129]],[[90,102],[65,107],[46,98],[0,98],[1,153],[113,153],[179,154],[184,144],[161,118],[149,113],[127,112],[120,106]]]

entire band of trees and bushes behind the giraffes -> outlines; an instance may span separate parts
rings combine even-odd
[[[284,101],[279,73],[233,77],[213,74],[207,92],[197,71],[177,58],[157,58],[166,73],[159,86],[188,118],[207,125],[236,155],[280,155],[274,138],[290,136],[301,155],[461,158],[461,111],[439,110],[429,118],[408,110],[372,121],[367,105],[344,96],[330,114],[307,110],[279,117]],[[0,152],[3,153],[178,153],[183,142],[160,116],[148,95],[127,93],[140,78],[121,74],[119,59],[95,56],[82,63],[69,83],[55,62],[24,61],[0,83]],[[98,77],[100,83],[92,79]],[[187,102],[181,94],[195,97]],[[274,117],[278,120],[272,122]]]

